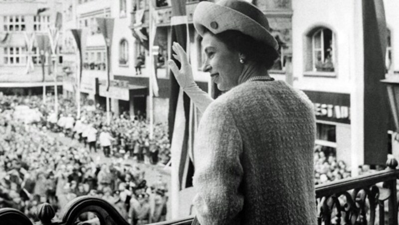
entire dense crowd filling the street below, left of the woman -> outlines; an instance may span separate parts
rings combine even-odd
[[[108,201],[131,224],[165,220],[168,200],[166,183],[160,177],[159,181],[147,184],[143,164],[138,162],[142,158],[147,159],[147,163],[157,161],[148,157],[147,152],[137,150],[142,146],[150,150],[151,145],[156,148],[156,143],[151,143],[146,136],[146,122],[130,120],[124,115],[114,118],[113,123],[107,126],[100,121],[103,114],[83,110],[82,117],[87,119],[81,119],[81,123],[90,129],[98,129],[98,132],[91,133],[96,134],[94,138],[89,136],[90,130],[88,131],[86,143],[91,146],[89,149],[84,146],[83,132],[86,129],[83,129],[80,137],[79,125],[76,127],[80,120],[73,121],[72,125],[68,124],[73,119],[68,118],[73,113],[73,103],[62,99],[59,102],[59,111],[67,116],[65,121],[60,122],[58,119],[54,123],[54,120],[49,121],[51,109],[41,104],[40,97],[0,98],[0,208],[18,209],[32,221],[37,221],[36,210],[41,203],[47,202],[60,212],[72,199],[91,195]],[[32,123],[14,118],[17,114],[15,108],[20,105],[35,110]],[[65,123],[62,124],[63,122]],[[76,137],[81,143],[65,143],[58,139],[58,134],[52,137],[48,135],[51,131],[47,127]],[[164,135],[163,138],[167,138],[161,132],[162,126],[156,127],[158,131],[155,132],[155,137]],[[112,144],[106,156],[113,157],[112,160],[101,162],[90,153],[90,150],[97,147],[97,133],[99,136],[108,133]],[[134,139],[136,142],[132,151],[132,140],[129,137],[135,135],[137,137]],[[93,139],[94,146],[91,144]],[[88,213],[81,215],[80,220],[93,218],[95,215]]]

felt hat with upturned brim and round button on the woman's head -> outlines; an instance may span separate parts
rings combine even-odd
[[[265,14],[243,0],[201,1],[193,15],[194,26],[202,36],[204,28],[214,34],[238,30],[278,51],[277,40],[271,35]]]

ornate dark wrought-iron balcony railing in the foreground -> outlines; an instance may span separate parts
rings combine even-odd
[[[317,185],[317,223],[398,225],[397,166],[395,159],[389,159],[384,171]],[[54,209],[47,203],[42,204],[37,210],[40,222],[36,225],[73,225],[86,212],[96,214],[101,225],[129,225],[108,202],[89,196],[69,202],[58,221],[53,220]],[[190,225],[193,220],[190,217],[152,225]],[[4,225],[32,225],[23,213],[10,208],[0,209],[0,222]]]

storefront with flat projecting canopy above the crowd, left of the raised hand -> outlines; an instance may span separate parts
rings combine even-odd
[[[131,85],[128,81],[111,80],[108,92],[106,81],[99,82],[100,98],[105,100],[106,97],[109,97],[111,99],[111,111],[116,114],[127,112],[130,115],[137,115],[146,112],[147,95],[147,87]]]

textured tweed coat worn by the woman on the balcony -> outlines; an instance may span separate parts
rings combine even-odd
[[[315,115],[283,81],[251,81],[205,110],[193,203],[201,225],[316,224]]]

